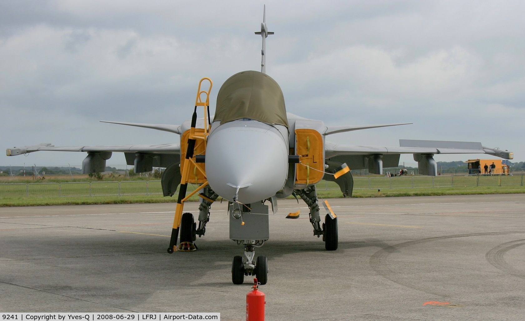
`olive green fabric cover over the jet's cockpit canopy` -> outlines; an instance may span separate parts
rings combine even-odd
[[[285,98],[275,80],[259,71],[242,71],[220,87],[214,121],[220,124],[241,118],[288,127]]]

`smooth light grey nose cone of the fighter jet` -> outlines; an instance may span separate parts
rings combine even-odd
[[[208,138],[206,177],[215,193],[228,201],[234,200],[236,186],[237,201],[250,204],[274,196],[285,184],[286,142],[277,129],[262,125],[267,128],[218,127]]]

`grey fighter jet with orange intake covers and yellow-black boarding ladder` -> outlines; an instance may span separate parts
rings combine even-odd
[[[512,152],[482,147],[479,142],[400,140],[400,147],[374,147],[326,141],[327,136],[341,132],[406,124],[327,126],[321,120],[287,113],[281,88],[265,72],[266,38],[274,34],[266,26],[266,13],[256,34],[262,37],[261,71],[241,71],[226,80],[218,92],[215,115],[209,114],[213,83],[204,78],[198,85],[192,119],[181,125],[106,121],[173,132],[180,135],[180,142],[77,147],[43,143],[7,149],[7,156],[41,150],[87,152],[82,172],[96,173],[104,170],[113,152],[123,152],[137,173],[165,168],[161,181],[164,196],[179,189],[169,253],[196,250],[196,236],[205,235],[210,208],[222,197],[227,201],[230,239],[244,246],[243,256],[235,256],[232,263],[235,284],[243,283],[246,275],[255,275],[266,284],[267,258],[255,258],[255,248],[269,239],[269,207],[276,213],[278,198],[300,197],[309,207],[313,235],[322,237],[325,249],[333,251],[338,248],[337,215],[328,202],[322,203],[324,211],[319,206],[316,183],[322,179],[336,182],[343,196],[351,196],[350,169],[382,174],[384,167],[397,167],[403,153],[414,155],[423,175],[437,174],[435,154],[485,153],[513,158]],[[204,117],[198,118],[201,106]],[[188,183],[199,187],[187,195]],[[184,202],[196,193],[200,200],[198,226],[192,213],[183,213]],[[297,216],[290,213],[287,217]]]

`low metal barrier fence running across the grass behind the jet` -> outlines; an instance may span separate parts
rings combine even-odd
[[[510,175],[440,175],[354,177],[355,190],[417,189],[424,187],[521,185],[525,173]],[[188,192],[192,189],[188,186]],[[335,182],[321,181],[318,190],[339,190]],[[64,182],[0,184],[1,198],[162,195],[161,181]]]

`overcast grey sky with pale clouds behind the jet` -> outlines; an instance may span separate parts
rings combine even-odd
[[[525,160],[525,2],[0,2],[0,147],[177,142],[99,120],[180,124],[198,81],[260,70],[262,7],[275,35],[267,73],[287,111],[327,125],[414,123],[335,134],[351,145],[479,141]],[[0,165],[80,165],[36,152]],[[484,158],[436,155],[436,161]],[[415,165],[412,155],[402,162]],[[125,164],[114,153],[108,165]]]

